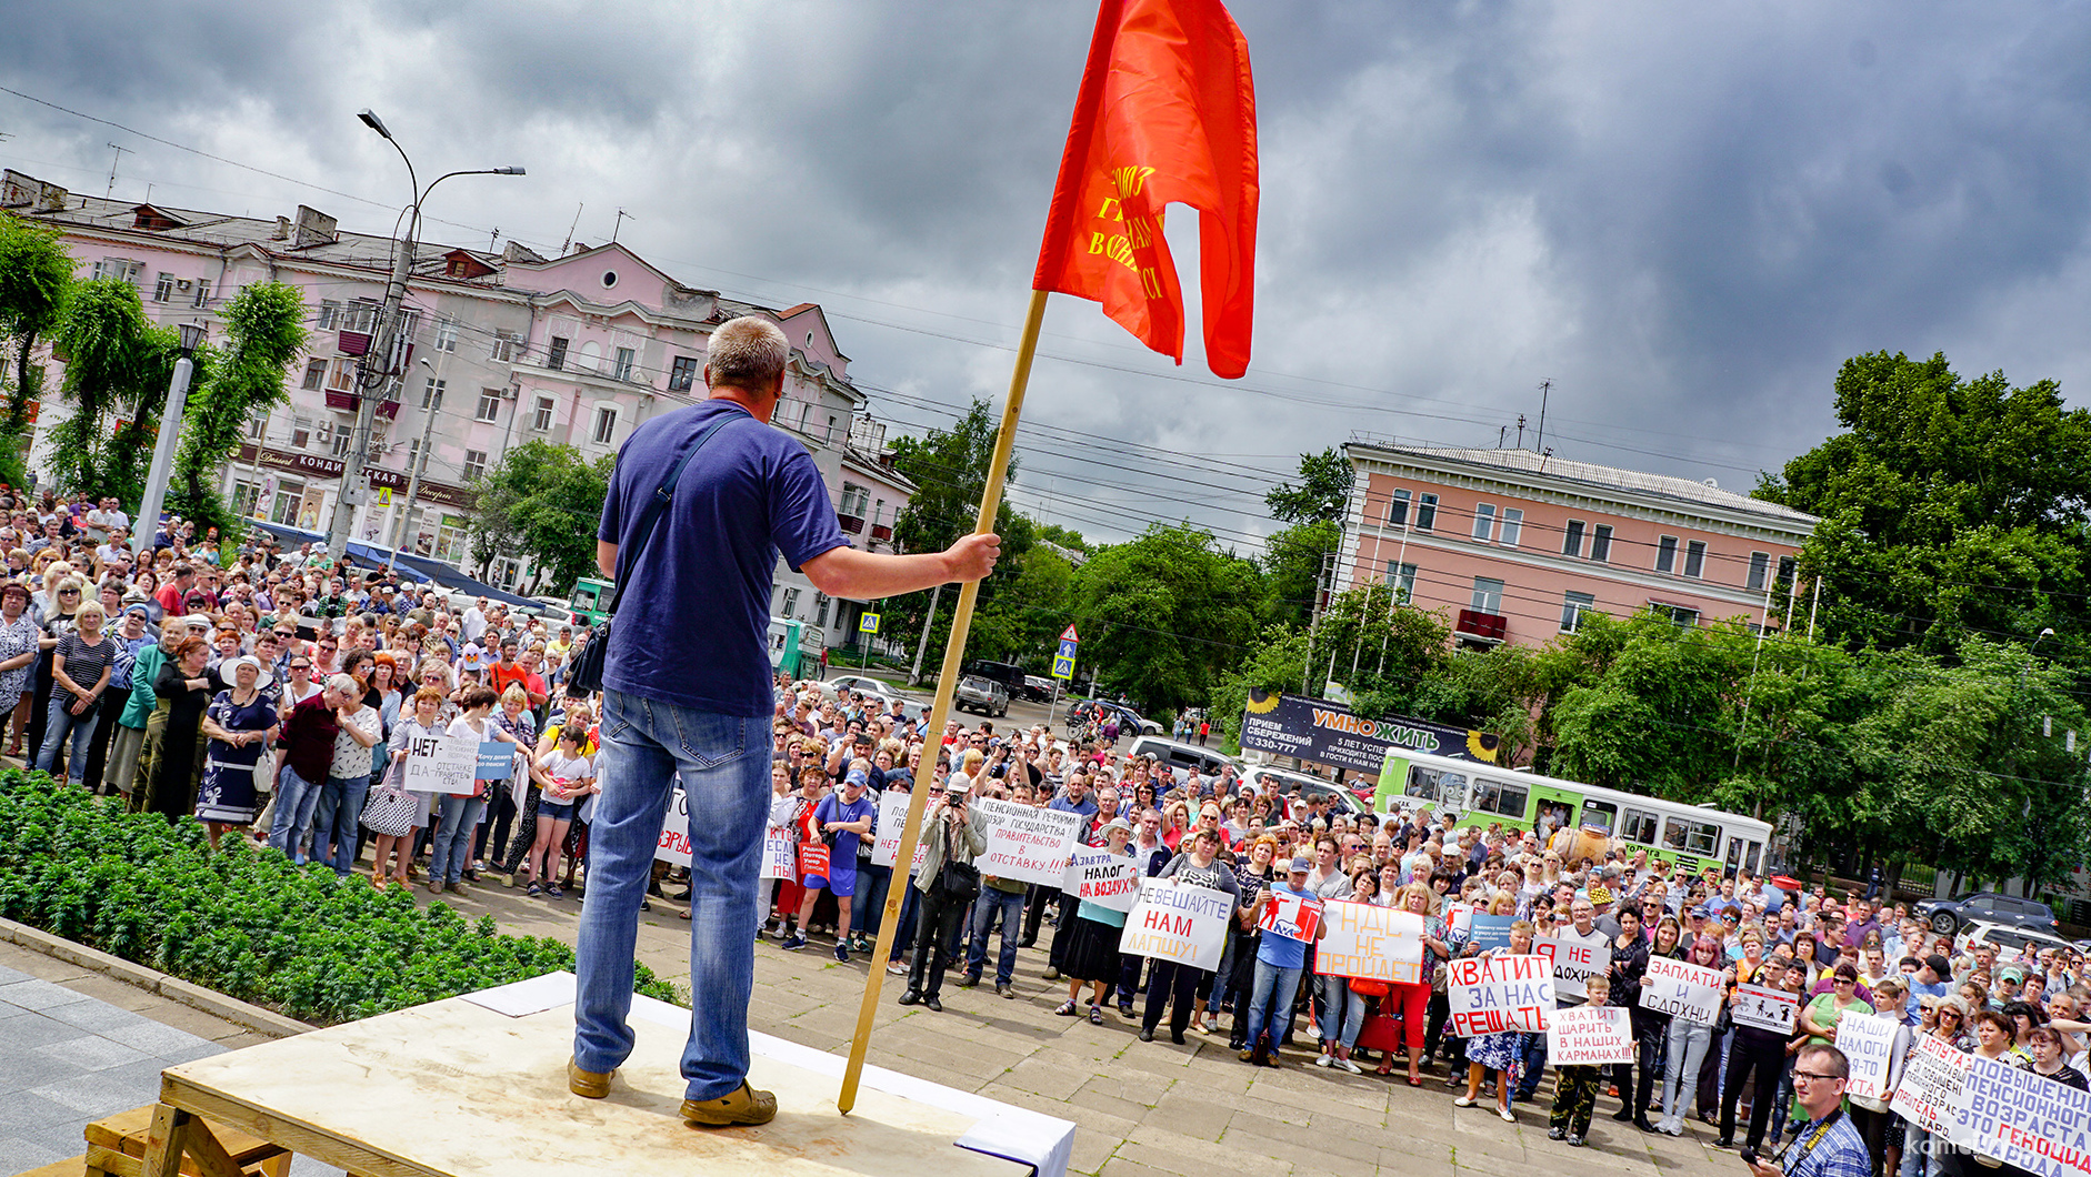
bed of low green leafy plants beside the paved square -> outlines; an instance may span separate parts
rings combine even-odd
[[[573,968],[569,945],[498,934],[491,916],[224,845],[213,853],[199,822],[0,774],[0,916],[293,1018],[349,1022]],[[640,993],[675,999],[631,970]]]

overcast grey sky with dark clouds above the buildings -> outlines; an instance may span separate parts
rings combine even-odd
[[[125,10],[128,8],[128,10]],[[1832,429],[1836,366],[2053,376],[2091,337],[2091,8],[1236,0],[1263,142],[1257,337],[1219,383],[1056,297],[1027,508],[1244,552],[1261,489],[1353,431],[1719,479]],[[895,429],[999,406],[1096,8],[1077,0],[17,4],[0,163],[389,232],[621,240],[688,284],[822,303]],[[289,178],[289,180],[284,180]],[[330,192],[332,190],[332,192]],[[1194,215],[1171,245],[1196,289]],[[1158,449],[1140,449],[1158,447]],[[1050,502],[1048,502],[1050,500]]]

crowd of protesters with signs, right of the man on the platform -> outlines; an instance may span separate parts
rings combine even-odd
[[[905,976],[899,1001],[943,1010],[943,980],[993,980],[1014,997],[1018,949],[1050,926],[1043,978],[1064,983],[1058,1014],[1104,1024],[1117,1010],[1142,1041],[1167,1020],[1173,1043],[1188,1033],[1219,1037],[1242,1062],[1296,1062],[1361,1075],[1401,1068],[1424,1087],[1441,1072],[1460,1106],[1539,1098],[1545,1035],[1503,1031],[1462,1039],[1449,1031],[1443,962],[1474,955],[1462,911],[1510,916],[1510,945],[1535,941],[1604,945],[1608,968],[1556,978],[1562,1008],[1629,1010],[1635,1062],[1602,1070],[1556,1068],[1549,1137],[1583,1144],[1600,1091],[1618,1100],[1612,1118],[1648,1133],[1683,1135],[1690,1118],[1721,1148],[1771,1158],[1782,1141],[1821,1129],[1825,1091],[1842,1093],[1836,1020],[1894,1018],[1915,1035],[1938,1035],[1989,1058],[2085,1087],[2091,976],[2070,947],[2001,951],[1957,945],[1932,932],[1905,903],[1880,903],[1828,886],[1786,891],[1750,872],[1687,872],[1641,851],[1566,859],[1541,834],[1462,826],[1420,807],[1399,815],[1349,813],[1326,794],[1259,792],[1230,767],[1217,776],[1117,755],[1110,740],[1062,740],[1043,725],[997,732],[993,721],[947,723],[930,744],[901,709],[874,696],[778,682],[769,826],[797,847],[822,845],[826,874],[778,880],[763,897],[763,932],[797,951],[809,937],[834,939],[836,960],[868,951],[884,895],[907,886],[901,926],[884,962]],[[1092,732],[1081,728],[1079,732]],[[912,790],[930,759],[933,801],[922,838],[928,853],[907,880],[872,861],[876,794]],[[953,872],[985,851],[974,801],[1035,805],[1083,817],[1081,843],[1127,855],[1144,876],[1169,876],[1236,897],[1225,957],[1204,972],[1117,953],[1125,916],[1054,886]],[[799,855],[795,861],[805,861]],[[1422,980],[1384,985],[1319,976],[1313,945],[1263,934],[1257,909],[1276,895],[1401,907],[1424,922]],[[832,895],[832,903],[824,899]],[[999,930],[999,951],[995,934]],[[1717,1024],[1639,1006],[1648,962],[1667,955],[1721,970]],[[1798,995],[1792,1033],[1736,1024],[1738,985]],[[1901,1058],[1899,1054],[1899,1058]],[[1830,1077],[1830,1072],[1836,1077]],[[1813,1100],[1813,1110],[1811,1110]],[[1832,1100],[1842,1114],[1844,1102]],[[1930,1177],[1955,1158],[1905,1129],[1886,1104],[1848,1102],[1848,1123],[1821,1139],[1859,1139],[1869,1173]],[[1911,1139],[1911,1137],[1917,1139]]]

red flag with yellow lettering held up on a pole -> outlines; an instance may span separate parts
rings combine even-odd
[[[1219,0],[1104,0],[1060,157],[1035,291],[1104,303],[1184,362],[1184,291],[1163,207],[1198,209],[1204,355],[1248,368],[1257,274],[1257,94]]]

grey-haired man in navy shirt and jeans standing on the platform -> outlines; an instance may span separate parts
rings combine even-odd
[[[577,949],[573,1062],[567,1085],[600,1100],[631,1054],[631,960],[654,845],[673,788],[690,801],[690,1041],[682,1116],[761,1125],[776,1095],[749,1087],[755,987],[755,874],[769,815],[765,636],[778,552],[828,596],[876,600],[995,567],[1002,541],[966,535],[945,552],[880,556],[849,548],[813,458],[765,422],[784,395],[790,343],[765,318],[709,341],[709,399],[648,420],[617,454],[602,502],[596,564],[623,602],[602,675],[602,797],[590,826],[588,903]],[[646,502],[707,426],[661,512]],[[634,560],[619,564],[619,548]]]

